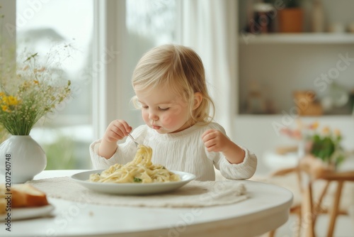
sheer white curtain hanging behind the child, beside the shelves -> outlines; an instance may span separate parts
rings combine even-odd
[[[234,139],[236,116],[236,4],[234,0],[180,1],[182,45],[202,58],[215,101],[215,120]]]

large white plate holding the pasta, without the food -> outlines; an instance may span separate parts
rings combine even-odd
[[[101,183],[89,182],[89,177],[93,173],[101,173],[103,170],[91,170],[79,172],[72,175],[72,179],[83,185],[84,187],[96,192],[108,194],[156,194],[160,192],[169,192],[178,189],[188,182],[195,180],[195,175],[188,172],[171,171],[181,177],[181,181],[176,182],[154,182],[147,184],[137,183]]]

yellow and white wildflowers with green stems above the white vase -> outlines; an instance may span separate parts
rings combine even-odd
[[[37,53],[17,61],[0,60],[0,125],[12,135],[27,136],[42,116],[71,95],[71,82],[62,79],[53,61],[40,65]]]

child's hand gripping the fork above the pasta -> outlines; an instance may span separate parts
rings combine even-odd
[[[132,127],[124,120],[115,120],[112,121],[103,135],[103,140],[113,143],[117,140],[122,140],[125,136],[128,136],[128,133],[132,131]]]

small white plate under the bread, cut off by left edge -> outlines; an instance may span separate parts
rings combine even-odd
[[[11,214],[11,221],[38,218],[42,216],[48,216],[53,210],[54,206],[51,204],[45,206],[12,208],[8,213]],[[6,221],[6,214],[0,215],[0,222]]]

